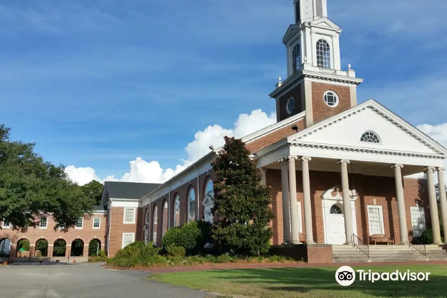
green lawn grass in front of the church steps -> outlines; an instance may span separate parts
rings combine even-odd
[[[335,281],[334,268],[227,269],[152,275],[157,281],[224,297],[259,298],[446,298],[447,266],[355,267],[374,272],[431,272],[429,281],[356,282],[342,287]]]

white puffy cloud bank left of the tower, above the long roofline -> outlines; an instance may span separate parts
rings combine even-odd
[[[233,129],[225,129],[219,125],[208,126],[205,130],[199,131],[194,135],[194,141],[189,143],[185,150],[187,158],[182,160],[182,164],[178,164],[175,169],[163,169],[158,161],[146,161],[141,157],[129,162],[130,171],[125,173],[120,179],[114,175],[100,179],[91,167],[75,167],[67,166],[65,169],[68,176],[79,185],[84,185],[91,180],[97,181],[125,181],[125,182],[142,182],[142,183],[162,183],[185,168],[193,164],[196,160],[210,152],[210,145],[219,148],[224,145],[224,136],[233,136],[242,138],[246,135],[254,133],[266,126],[276,122],[276,114],[267,115],[260,109],[252,111],[250,114],[240,114],[234,122]]]

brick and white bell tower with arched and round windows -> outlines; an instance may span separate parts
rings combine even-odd
[[[287,79],[270,97],[277,121],[305,111],[305,127],[357,105],[357,78],[351,65],[342,70],[341,28],[327,17],[327,0],[294,0],[295,24],[283,38]]]

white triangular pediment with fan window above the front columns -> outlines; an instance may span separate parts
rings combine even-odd
[[[289,141],[415,154],[445,154],[446,149],[434,140],[375,101],[369,102],[357,106],[359,109],[354,107],[298,132],[289,137]],[[388,113],[384,114],[384,110]],[[380,144],[361,142],[362,135],[367,131],[374,132],[380,138]]]

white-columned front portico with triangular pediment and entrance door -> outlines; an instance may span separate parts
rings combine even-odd
[[[409,233],[419,235],[428,213],[435,244],[441,243],[434,175],[444,188],[445,149],[392,113],[383,117],[388,112],[370,100],[256,152],[259,166],[271,169],[268,173],[280,170],[285,243],[299,244],[300,232],[306,244],[346,245],[354,237],[367,242],[369,235],[380,233],[408,245]],[[372,123],[379,141],[360,141],[363,136],[356,131],[369,131]],[[402,139],[406,150],[396,142]],[[425,185],[402,178],[421,172],[427,176]],[[447,223],[444,193],[441,206]]]

